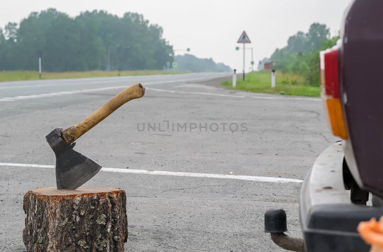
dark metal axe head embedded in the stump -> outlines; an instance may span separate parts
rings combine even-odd
[[[62,128],[56,128],[45,139],[56,155],[57,189],[77,189],[93,178],[101,165],[73,149],[61,138]]]

